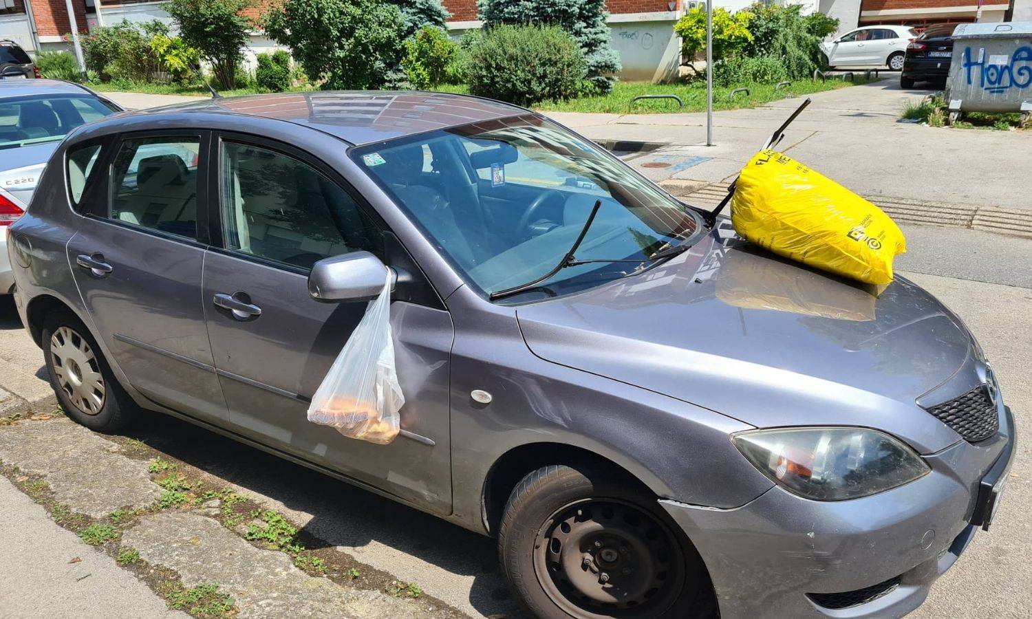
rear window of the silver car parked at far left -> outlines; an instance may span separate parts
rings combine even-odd
[[[60,141],[75,127],[111,113],[86,93],[0,99],[0,150]]]

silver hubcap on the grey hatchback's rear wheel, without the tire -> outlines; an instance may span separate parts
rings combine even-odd
[[[51,369],[58,386],[76,410],[97,415],[104,408],[107,389],[93,349],[71,327],[51,335]]]

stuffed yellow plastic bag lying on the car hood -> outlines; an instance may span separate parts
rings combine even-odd
[[[731,222],[748,240],[867,284],[893,281],[903,232],[864,198],[786,155],[765,150],[742,168]]]

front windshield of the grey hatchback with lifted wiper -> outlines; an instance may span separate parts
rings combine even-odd
[[[594,144],[523,116],[355,149],[355,162],[484,293],[563,268],[526,294],[573,292],[633,273],[700,227],[683,204]],[[523,296],[522,300],[526,300]]]

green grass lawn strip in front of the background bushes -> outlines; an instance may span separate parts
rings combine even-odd
[[[863,79],[858,77],[857,84],[863,84]],[[749,89],[748,94],[738,94],[734,99],[729,95],[734,89],[714,88],[713,108],[714,109],[737,109],[740,107],[755,107],[769,101],[796,97],[809,93],[847,88],[849,82],[839,79],[829,79],[827,82],[815,82],[812,79],[800,79],[793,82],[789,86],[781,90],[775,90],[774,85],[749,84],[744,85]],[[127,83],[94,83],[90,88],[99,92],[136,92],[154,95],[207,95],[207,90],[202,86],[179,86],[173,84],[127,84]],[[297,88],[292,92],[301,92],[311,88]],[[466,94],[469,87],[464,85],[450,86],[442,85],[436,91]],[[253,95],[264,92],[258,88],[236,89],[231,91],[220,91],[219,94],[231,97],[234,95]],[[683,108],[678,108],[673,100],[644,100],[638,101],[633,106],[631,100],[638,95],[677,95],[684,102]],[[695,82],[691,84],[650,84],[647,82],[618,82],[613,92],[609,95],[598,97],[581,97],[570,101],[544,101],[534,106],[536,109],[546,111],[587,111],[587,112],[609,112],[609,113],[668,113],[678,111],[702,111],[706,109],[706,84]]]

